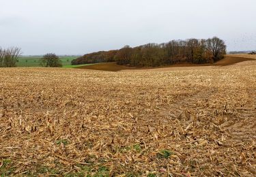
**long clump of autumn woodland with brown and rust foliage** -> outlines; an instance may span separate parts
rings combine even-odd
[[[74,59],[72,65],[106,63],[115,61],[118,65],[131,67],[158,67],[177,63],[214,63],[223,59],[226,45],[222,39],[172,40],[163,44],[145,44],[119,50],[100,51],[85,54]]]

